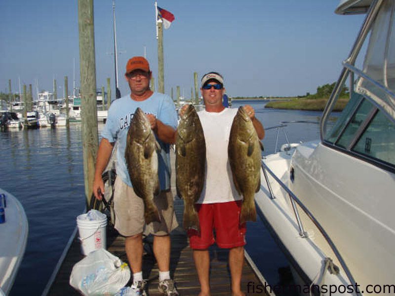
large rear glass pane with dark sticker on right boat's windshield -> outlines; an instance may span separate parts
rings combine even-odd
[[[379,111],[352,150],[395,164],[394,123]]]

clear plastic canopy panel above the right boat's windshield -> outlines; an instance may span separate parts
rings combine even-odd
[[[395,1],[384,1],[372,26],[356,92],[369,96],[395,120]]]

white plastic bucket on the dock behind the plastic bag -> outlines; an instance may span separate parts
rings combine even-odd
[[[96,220],[89,220],[87,218],[87,216],[89,216],[89,212],[77,217],[79,240],[81,241],[81,253],[85,256],[97,249],[106,249],[107,242],[107,216],[96,211],[99,213],[99,215],[96,215]]]

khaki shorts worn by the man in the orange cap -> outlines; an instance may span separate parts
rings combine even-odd
[[[114,188],[115,229],[121,235],[132,236],[144,232],[162,236],[177,228],[173,194],[170,190],[161,191],[154,198],[161,221],[146,225],[143,199],[138,197],[133,188],[123,183],[120,178],[115,180]]]

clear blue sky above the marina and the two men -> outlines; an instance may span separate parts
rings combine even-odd
[[[116,0],[119,88],[128,58],[144,55],[157,80],[154,0]],[[315,93],[337,80],[364,16],[336,15],[338,0],[159,0],[175,21],[164,31],[165,92],[179,85],[190,96],[193,73],[217,71],[230,96],[293,96]],[[0,91],[8,79],[38,80],[52,91],[64,76],[79,85],[77,0],[0,1]],[[114,94],[112,0],[94,1],[96,83],[111,77]],[[157,81],[156,81],[157,83]],[[34,87],[34,92],[36,92]],[[59,95],[58,95],[59,96]]]

